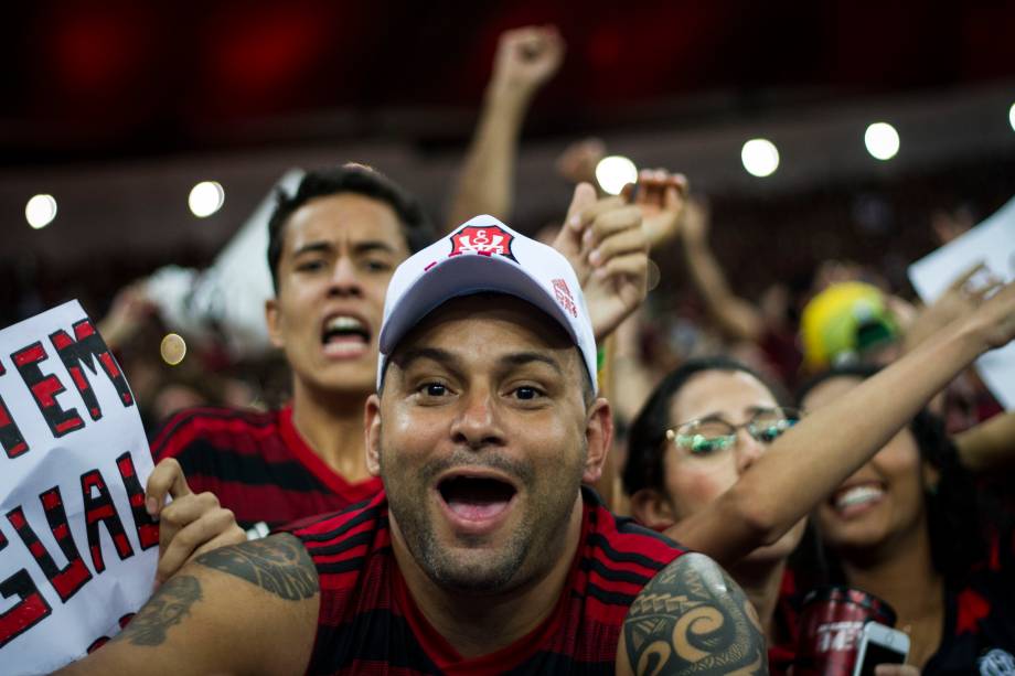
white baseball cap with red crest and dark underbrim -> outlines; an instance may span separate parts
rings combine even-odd
[[[581,352],[598,391],[596,336],[575,270],[553,247],[493,216],[472,218],[395,270],[384,299],[377,389],[388,357],[413,326],[452,298],[483,292],[515,296],[555,319]]]

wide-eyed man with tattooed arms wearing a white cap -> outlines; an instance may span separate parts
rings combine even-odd
[[[380,347],[384,491],[199,556],[68,673],[766,673],[736,583],[581,485],[612,422],[567,259],[473,218],[396,270]]]

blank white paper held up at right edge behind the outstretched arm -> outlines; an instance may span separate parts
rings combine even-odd
[[[1006,282],[1015,280],[1015,198],[961,237],[909,266],[909,280],[923,302],[933,302],[977,262]],[[1015,410],[1015,344],[976,361],[980,377],[1005,410]]]

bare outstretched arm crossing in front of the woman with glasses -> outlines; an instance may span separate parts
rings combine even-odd
[[[973,360],[1015,337],[1015,283],[808,415],[714,503],[667,535],[733,565],[772,544],[876,454]]]

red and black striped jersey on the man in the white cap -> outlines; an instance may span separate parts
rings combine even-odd
[[[683,554],[673,540],[611,514],[583,487],[581,539],[567,589],[538,627],[492,654],[463,658],[426,620],[398,570],[382,493],[293,532],[321,588],[309,674],[612,674],[628,608]]]

